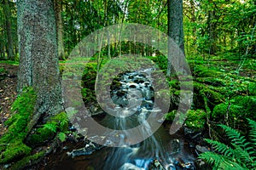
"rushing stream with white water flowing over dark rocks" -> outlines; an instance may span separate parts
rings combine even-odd
[[[116,83],[111,87],[111,98],[116,104],[114,111],[121,116],[116,117],[101,112],[102,114],[96,114],[94,119],[104,127],[121,130],[144,124],[141,133],[152,134],[152,129],[146,120],[150,114],[157,114],[160,108],[154,105],[151,71],[152,69],[119,75]],[[137,93],[137,90],[140,93]],[[137,103],[140,105],[135,107]],[[134,109],[135,111],[130,114]],[[119,140],[119,143],[122,143],[119,144],[120,147],[103,147],[91,142],[87,142],[85,146],[81,143],[77,145],[67,143],[57,155],[50,157],[54,161],[47,162],[47,169],[195,169],[195,155],[189,148],[189,141],[186,140],[183,129],[170,135],[169,127],[170,124],[163,123],[148,139],[133,145],[129,144],[130,139],[125,137],[125,133],[119,134],[119,139],[123,138]],[[106,142],[111,145],[115,143],[114,140],[109,137]]]

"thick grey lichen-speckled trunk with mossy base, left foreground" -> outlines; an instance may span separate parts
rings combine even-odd
[[[18,91],[34,88],[35,122],[42,114],[62,111],[54,4],[51,0],[17,1],[20,68]]]

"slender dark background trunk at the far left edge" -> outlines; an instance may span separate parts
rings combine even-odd
[[[6,31],[7,31],[7,42],[8,42],[8,48],[7,48],[7,54],[8,59],[15,59],[15,53],[14,53],[14,43],[13,43],[13,37],[12,37],[12,26],[11,26],[11,14],[9,9],[9,0],[4,0],[4,8],[3,12],[5,14],[5,25],[6,25]]]

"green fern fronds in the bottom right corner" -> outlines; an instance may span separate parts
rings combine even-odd
[[[250,131],[250,139],[246,139],[241,133],[231,127],[219,125],[222,127],[230,139],[230,144],[223,144],[212,139],[206,139],[208,144],[217,153],[205,152],[200,158],[213,165],[213,169],[255,169],[256,168],[256,122],[247,119]]]

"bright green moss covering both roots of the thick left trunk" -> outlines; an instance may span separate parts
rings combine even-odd
[[[19,169],[20,166],[25,166],[33,160],[36,161],[40,156],[44,156],[44,151],[32,152],[36,145],[55,136],[61,140],[66,139],[68,119],[65,112],[50,117],[42,127],[33,129],[35,132],[30,134],[28,125],[34,113],[36,99],[37,95],[32,88],[23,88],[22,93],[12,105],[11,118],[5,122],[8,131],[0,138],[0,164],[15,162],[14,166],[10,167],[11,169]]]

